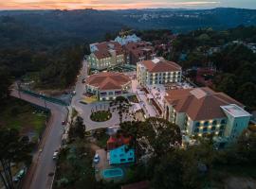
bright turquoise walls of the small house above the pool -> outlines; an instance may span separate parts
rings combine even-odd
[[[109,164],[134,163],[135,149],[126,145],[119,146],[109,152]]]

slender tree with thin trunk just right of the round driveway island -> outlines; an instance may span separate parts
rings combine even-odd
[[[123,114],[129,113],[131,104],[129,100],[123,96],[118,96],[114,101],[110,103],[110,107],[116,107],[119,111],[119,123],[122,123]]]

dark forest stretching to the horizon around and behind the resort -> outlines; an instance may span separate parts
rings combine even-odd
[[[83,55],[89,53],[88,43],[113,39],[121,28],[134,28],[146,41],[172,45],[166,58],[185,69],[212,63],[219,71],[215,89],[255,107],[256,100],[247,97],[255,91],[255,54],[245,45],[230,44],[256,42],[255,16],[250,9],[0,11],[0,77],[32,76],[38,88],[64,89],[74,82]],[[229,26],[238,27],[218,30]],[[198,27],[202,29],[184,33]],[[173,41],[162,35],[170,29],[183,33]],[[221,46],[221,51],[208,56],[212,46]],[[187,60],[179,60],[180,54],[186,54]]]

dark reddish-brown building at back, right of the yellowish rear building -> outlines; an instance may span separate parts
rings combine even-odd
[[[152,43],[138,42],[124,45],[125,62],[137,64],[137,61],[152,60],[155,57],[155,48]]]

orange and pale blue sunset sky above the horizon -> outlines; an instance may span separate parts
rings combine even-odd
[[[256,0],[0,0],[0,9],[256,9]]]

